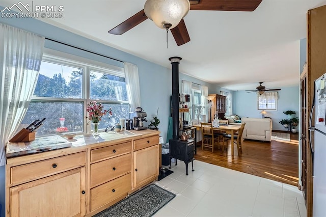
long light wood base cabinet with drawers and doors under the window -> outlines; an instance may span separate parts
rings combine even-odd
[[[122,139],[9,157],[6,216],[92,216],[157,178],[158,141],[159,131],[142,130]]]

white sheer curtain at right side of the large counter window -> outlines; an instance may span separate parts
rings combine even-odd
[[[138,67],[137,65],[126,62],[123,63],[123,67],[126,77],[130,112],[134,112],[135,107],[141,106],[141,89],[139,86]]]

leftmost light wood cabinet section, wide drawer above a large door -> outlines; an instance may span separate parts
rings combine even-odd
[[[79,159],[79,161],[69,161],[67,167],[67,164],[62,164],[68,162],[67,159]],[[51,167],[48,167],[49,163]],[[80,165],[83,166],[69,170]],[[55,175],[45,176],[45,168],[49,169],[48,174]],[[56,213],[56,216],[84,216],[86,214],[85,152],[32,162],[11,169],[13,186],[9,189],[10,216],[52,216],[53,213]],[[23,172],[23,170],[27,171]],[[24,176],[24,173],[30,175]],[[44,178],[38,179],[43,176]],[[15,185],[15,183],[21,184]]]

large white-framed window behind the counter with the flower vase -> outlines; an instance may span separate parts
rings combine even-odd
[[[123,68],[55,53],[63,57],[43,55],[34,96],[21,122],[22,127],[36,119],[46,118],[38,136],[62,132],[90,133],[86,105],[93,100],[102,103],[105,110],[113,109],[113,116],[102,117],[100,129],[115,125],[120,118],[128,118]]]

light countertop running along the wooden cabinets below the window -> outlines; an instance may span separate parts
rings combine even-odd
[[[125,139],[136,139],[159,134],[157,130],[123,130],[120,132],[100,132],[98,135],[80,134],[74,139],[68,140],[63,135],[51,135],[48,137],[37,137],[31,142],[9,142],[6,146],[6,157],[22,156],[44,151],[62,148],[92,147],[99,143],[119,142]]]

